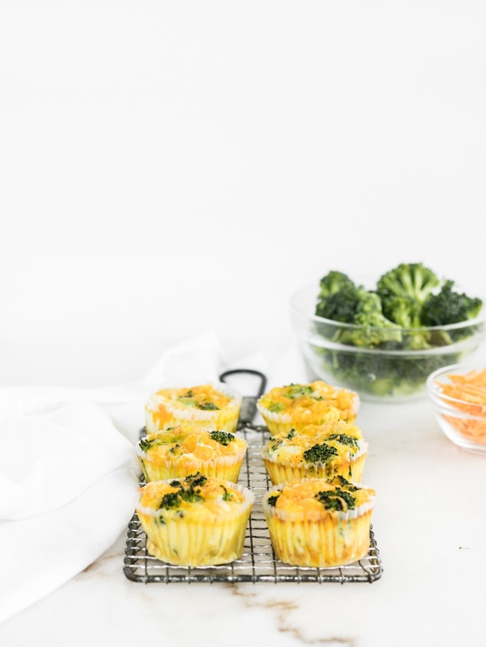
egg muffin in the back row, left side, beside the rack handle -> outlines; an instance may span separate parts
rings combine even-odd
[[[146,430],[153,433],[190,423],[233,432],[241,405],[241,394],[224,383],[160,389],[146,402]]]

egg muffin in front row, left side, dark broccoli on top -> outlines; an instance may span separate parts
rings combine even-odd
[[[151,555],[178,566],[210,566],[241,557],[254,501],[248,488],[196,473],[147,483],[136,512]]]

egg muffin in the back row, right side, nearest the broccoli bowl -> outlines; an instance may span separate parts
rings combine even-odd
[[[258,412],[274,436],[337,418],[354,422],[359,407],[356,392],[333,387],[322,380],[274,387],[257,402]]]

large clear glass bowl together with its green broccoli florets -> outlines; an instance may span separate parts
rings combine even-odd
[[[399,264],[372,289],[332,270],[291,299],[309,379],[377,401],[426,396],[430,373],[478,350],[485,315],[483,299],[423,263]]]

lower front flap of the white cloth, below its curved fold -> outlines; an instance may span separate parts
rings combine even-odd
[[[3,555],[0,623],[63,585],[104,553],[135,509],[126,467],[107,473],[69,505],[48,514],[0,521]]]

